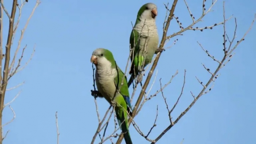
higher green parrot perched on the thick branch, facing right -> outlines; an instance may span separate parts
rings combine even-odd
[[[133,79],[137,77],[137,83],[142,81],[142,75],[139,73],[143,71],[154,56],[159,51],[158,31],[155,24],[157,16],[157,7],[153,3],[144,4],[138,11],[136,23],[130,35],[130,47],[134,47],[134,52],[131,54],[132,65],[130,69],[130,80],[128,87],[130,87]],[[146,53],[145,53],[146,52]],[[143,65],[143,61],[144,65]]]

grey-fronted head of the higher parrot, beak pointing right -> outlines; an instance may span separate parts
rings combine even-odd
[[[137,19],[144,21],[145,19],[154,19],[157,16],[157,7],[153,3],[146,3],[140,8]]]

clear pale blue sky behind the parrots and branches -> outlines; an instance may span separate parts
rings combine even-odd
[[[98,47],[111,50],[118,65],[124,70],[129,55],[131,21],[135,23],[138,9],[147,2],[153,2],[158,6],[156,23],[158,33],[162,36],[162,23],[165,18],[163,3],[168,1],[76,0],[63,2],[42,0],[22,41],[22,46],[28,45],[24,60],[29,59],[36,43],[34,57],[29,65],[13,76],[8,83],[8,88],[10,88],[25,81],[23,86],[6,93],[5,103],[12,100],[22,90],[20,96],[11,104],[16,113],[16,119],[4,127],[4,134],[10,130],[4,143],[55,144],[57,142],[56,111],[59,117],[60,144],[90,143],[98,126],[94,98],[90,92],[93,89],[90,63],[92,51]],[[169,2],[172,3],[172,1]],[[187,0],[187,2],[195,18],[201,16],[202,0],[193,2]],[[206,8],[211,2],[206,1]],[[35,1],[30,0],[24,6],[20,29],[24,26],[34,4]],[[254,18],[256,1],[227,0],[225,5],[226,18],[232,14],[237,18],[236,34],[237,38],[241,38]],[[5,1],[5,7],[10,11],[10,2]],[[222,21],[222,1],[219,0],[212,9],[214,11],[205,16],[203,21],[196,26],[205,27]],[[179,16],[184,27],[191,23],[184,1],[178,2],[174,13]],[[4,19],[4,40],[6,40],[7,16]],[[226,27],[231,37],[234,19],[228,21]],[[168,33],[172,34],[179,29],[176,21],[172,20]],[[232,60],[220,70],[221,75],[210,93],[203,95],[158,143],[177,144],[182,139],[184,139],[183,144],[255,143],[255,33],[256,26],[253,26],[243,43],[235,50],[236,54]],[[174,120],[192,102],[193,97],[190,91],[197,95],[202,89],[195,76],[205,83],[210,77],[201,63],[211,70],[214,70],[217,65],[202,51],[197,41],[215,58],[221,58],[223,55],[222,35],[222,25],[203,32],[186,31],[183,36],[172,38],[167,46],[171,46],[175,39],[179,40],[161,55],[156,68],[158,70],[156,83],[151,94],[159,90],[160,78],[162,78],[162,83],[166,83],[178,69],[179,74],[164,90],[169,107],[172,107],[180,94],[183,72],[184,69],[187,70],[183,96],[172,113]],[[18,36],[20,36],[20,31],[17,31],[12,51],[17,46]],[[137,100],[139,90],[132,105]],[[130,93],[132,93],[132,88],[130,88]],[[155,139],[169,125],[162,96],[158,94],[148,101],[135,118],[140,129],[148,133],[155,120],[157,105],[157,127],[153,129],[149,136],[150,139]],[[104,99],[98,99],[98,106],[102,118],[109,104]],[[7,107],[3,112],[3,122],[10,119],[12,119],[12,112]],[[108,134],[112,130],[113,119],[109,125]],[[133,143],[149,143],[136,132],[133,126],[130,126],[130,135]],[[113,140],[116,141],[116,139]],[[98,142],[97,137],[95,143]]]

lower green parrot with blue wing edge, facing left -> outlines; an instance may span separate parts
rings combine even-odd
[[[127,112],[132,116],[132,107],[126,76],[123,78],[124,73],[117,66],[112,52],[107,49],[95,49],[91,56],[91,62],[96,66],[95,81],[98,89],[98,91],[92,91],[92,95],[95,93],[98,97],[104,97],[109,104],[115,107],[116,117],[119,126],[121,125],[120,129],[124,133],[125,142],[132,144],[127,119]],[[122,79],[123,85],[121,86]],[[120,91],[117,93],[119,88]]]

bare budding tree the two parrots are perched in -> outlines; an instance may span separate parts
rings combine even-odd
[[[195,24],[197,23],[200,23],[202,22],[202,19],[204,18],[204,16],[206,16],[208,14],[208,12],[211,12],[212,11],[212,7],[213,5],[215,5],[215,3],[217,2],[217,0],[215,1],[210,1],[208,3],[211,3],[211,5],[209,6],[209,9],[206,9],[205,8],[205,5],[206,5],[206,0],[202,0],[202,15],[198,18],[198,19],[195,19],[195,17],[193,16],[192,12],[190,11],[190,8],[186,2],[186,0],[183,0],[184,2],[184,5],[187,7],[187,10],[188,10],[188,14],[190,15],[191,17],[191,24],[190,25],[187,25],[187,26],[184,26],[182,25],[182,23],[179,21],[179,18],[174,15],[174,11],[175,11],[175,7],[176,7],[176,4],[177,4],[178,0],[174,0],[172,5],[171,5],[171,9],[169,9],[169,4],[166,4],[165,5],[165,8],[166,8],[166,16],[165,16],[165,21],[163,23],[163,35],[162,35],[162,40],[161,40],[161,43],[159,45],[159,49],[162,49],[164,50],[164,47],[165,45],[169,42],[169,40],[177,35],[183,35],[183,32],[187,31],[187,30],[200,30],[200,31],[203,31],[204,29],[213,29],[213,27],[215,26],[220,26],[222,25],[223,26],[223,47],[222,48],[219,48],[219,51],[223,51],[223,54],[222,54],[222,58],[221,59],[217,59],[215,58],[214,56],[211,55],[211,53],[209,53],[208,50],[206,50],[207,48],[204,47],[199,41],[197,41],[198,45],[199,45],[199,48],[201,48],[205,54],[208,55],[209,58],[211,58],[213,61],[215,61],[217,63],[217,66],[214,68],[214,70],[210,70],[209,68],[207,68],[207,65],[205,64],[202,64],[202,67],[210,74],[209,76],[209,79],[208,79],[208,82],[207,83],[203,83],[201,82],[201,80],[199,78],[197,78],[197,76],[195,77],[197,79],[197,81],[199,82],[199,84],[202,86],[201,88],[201,91],[197,94],[194,94],[192,91],[190,91],[191,93],[191,96],[193,97],[193,101],[188,105],[188,107],[181,112],[181,114],[175,119],[173,120],[171,114],[172,114],[172,111],[175,109],[175,107],[177,106],[177,104],[179,103],[179,100],[180,100],[180,97],[183,95],[183,89],[185,87],[185,82],[186,82],[186,70],[184,70],[184,79],[183,79],[183,86],[181,87],[181,92],[180,92],[180,95],[177,97],[177,100],[176,100],[176,103],[170,107],[166,101],[166,98],[165,98],[165,95],[164,95],[164,89],[166,86],[169,85],[169,83],[172,82],[172,79],[178,74],[178,70],[177,72],[170,78],[169,82],[166,83],[165,85],[162,85],[162,82],[161,82],[161,79],[159,80],[160,81],[160,90],[158,90],[157,92],[155,92],[154,94],[151,94],[149,95],[150,91],[151,91],[151,88],[155,82],[155,79],[152,79],[152,75],[153,75],[153,72],[155,71],[155,68],[157,66],[157,63],[158,63],[158,60],[162,54],[162,52],[159,52],[156,57],[153,59],[152,61],[152,66],[148,72],[148,76],[146,77],[146,80],[143,84],[143,86],[141,87],[141,90],[140,90],[140,95],[135,103],[135,106],[133,107],[133,116],[129,118],[129,125],[130,123],[133,124],[134,128],[137,130],[137,132],[145,138],[146,141],[149,141],[151,142],[151,144],[154,144],[156,142],[158,142],[159,139],[162,138],[163,135],[166,134],[166,132],[168,132],[174,125],[176,125],[176,123],[190,110],[190,108],[197,102],[197,100],[204,94],[208,93],[209,91],[211,91],[213,89],[213,86],[214,86],[214,82],[216,81],[216,79],[218,78],[218,76],[220,76],[219,74],[219,70],[221,68],[223,68],[230,60],[231,58],[233,57],[233,54],[234,54],[234,50],[237,48],[237,46],[243,42],[245,36],[247,35],[247,33],[251,30],[253,24],[254,24],[254,21],[256,19],[256,14],[254,15],[254,19],[251,23],[251,26],[249,27],[249,29],[247,30],[247,32],[244,33],[244,36],[240,37],[239,39],[236,39],[236,30],[237,30],[237,23],[236,23],[236,18],[234,18],[234,24],[235,24],[235,29],[234,29],[234,33],[232,35],[228,35],[227,32],[226,32],[226,22],[230,19],[232,19],[232,16],[231,17],[228,17],[226,18],[225,16],[225,2],[223,2],[223,21],[222,22],[219,22],[219,23],[214,23],[212,24],[211,26],[205,26],[205,27],[194,27]],[[182,1],[179,1],[179,2],[182,2]],[[176,22],[178,23],[179,27],[180,27],[180,30],[178,32],[175,32],[173,33],[172,35],[169,35],[167,36],[167,31],[169,29],[169,25],[170,25],[170,22],[171,20],[176,20]],[[176,43],[176,40],[174,40],[174,44]],[[166,48],[165,48],[166,49]],[[131,55],[131,52],[133,51],[133,48],[130,48],[130,55]],[[129,55],[129,57],[130,57]],[[128,67],[128,63],[129,63],[129,58],[128,58],[128,61],[127,61],[127,65],[126,65],[126,71],[129,70],[129,67]],[[146,70],[149,68],[149,65],[148,67],[146,68]],[[125,71],[125,73],[126,73]],[[142,73],[145,73],[142,72]],[[93,74],[94,74],[94,67],[93,67]],[[156,72],[156,75],[157,75],[157,72]],[[94,75],[93,75],[93,79],[94,79]],[[151,87],[149,88],[149,90],[146,92],[147,88],[148,88],[148,85],[149,85],[149,82],[153,80],[153,83],[151,85]],[[95,79],[94,79],[95,81]],[[95,88],[95,82],[93,84],[94,86],[94,90],[96,90]],[[134,93],[135,91],[137,90],[137,84],[135,84],[134,88],[133,88],[133,93],[131,95],[131,101],[133,100],[133,96],[134,96]],[[165,130],[163,130],[161,133],[159,133],[159,135],[156,135],[155,138],[149,138],[149,135],[151,133],[151,131],[153,130],[153,128],[156,126],[156,121],[157,121],[157,118],[158,118],[158,107],[157,107],[157,113],[156,113],[156,117],[155,117],[155,121],[154,121],[154,124],[152,125],[151,128],[149,128],[149,132],[142,132],[139,128],[139,126],[136,124],[136,122],[133,120],[133,118],[139,114],[140,112],[140,109],[143,107],[143,105],[145,104],[145,102],[147,102],[148,100],[152,100],[156,95],[158,94],[161,94],[163,99],[164,99],[164,102],[165,102],[165,105],[166,105],[166,109],[168,110],[168,117],[169,117],[169,121],[170,121],[170,124],[166,126]],[[95,142],[95,139],[97,137],[97,135],[100,137],[100,142],[98,143],[104,143],[106,140],[110,140],[112,143],[113,142],[113,138],[116,138],[116,137],[119,137],[116,141],[116,144],[120,144],[123,140],[123,135],[122,133],[121,134],[116,134],[117,130],[119,128],[114,128],[113,132],[111,132],[108,136],[106,136],[106,129],[108,128],[108,123],[109,123],[109,120],[110,118],[112,117],[113,115],[113,108],[110,106],[104,117],[101,119],[99,114],[98,114],[98,105],[97,105],[97,100],[96,100],[96,97],[94,97],[94,101],[95,101],[95,105],[96,105],[96,112],[97,112],[97,115],[98,115],[98,128],[94,134],[94,137],[91,141],[91,144],[93,144]],[[129,115],[129,114],[127,114]],[[115,118],[114,118],[115,120]]]

